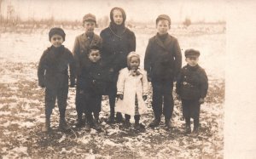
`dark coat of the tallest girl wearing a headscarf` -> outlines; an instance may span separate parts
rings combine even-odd
[[[108,71],[108,80],[117,82],[119,71],[127,66],[127,55],[136,49],[135,34],[126,27],[118,30],[109,26],[100,36],[102,60]]]

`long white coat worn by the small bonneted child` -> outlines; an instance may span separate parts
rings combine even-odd
[[[146,71],[140,71],[140,75],[132,75],[128,68],[119,72],[117,82],[117,94],[124,94],[124,99],[119,99],[116,103],[116,111],[135,116],[136,96],[138,112],[140,115],[147,111],[143,100],[143,95],[148,94],[148,80]]]

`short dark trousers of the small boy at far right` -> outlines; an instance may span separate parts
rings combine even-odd
[[[182,99],[183,117],[186,126],[190,127],[190,118],[194,119],[194,127],[199,127],[200,104],[199,99]]]

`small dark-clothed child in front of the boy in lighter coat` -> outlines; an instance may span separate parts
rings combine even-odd
[[[81,65],[81,74],[78,81],[81,87],[79,94],[83,95],[84,112],[87,119],[85,123],[86,131],[90,131],[92,126],[96,130],[102,129],[99,122],[99,113],[102,108],[102,94],[106,88],[106,82],[103,79],[104,72],[100,50],[93,47],[89,51],[88,61]]]

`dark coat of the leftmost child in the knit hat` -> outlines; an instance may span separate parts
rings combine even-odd
[[[51,46],[44,51],[38,65],[38,84],[49,89],[67,88],[68,72],[70,82],[74,84],[74,59],[73,54],[63,45],[60,48]]]

